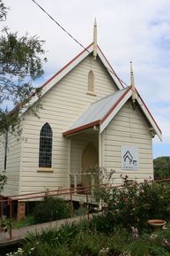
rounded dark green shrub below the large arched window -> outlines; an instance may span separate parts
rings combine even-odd
[[[70,206],[61,198],[47,197],[33,210],[34,223],[43,223],[70,217]]]

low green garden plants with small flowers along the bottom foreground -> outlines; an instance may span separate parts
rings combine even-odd
[[[81,222],[29,235],[22,256],[99,256],[103,248],[109,250],[106,255],[114,256],[170,256],[169,241],[170,228],[160,229],[152,236],[140,233],[134,240],[126,229],[117,229],[108,235],[89,229],[87,222]]]

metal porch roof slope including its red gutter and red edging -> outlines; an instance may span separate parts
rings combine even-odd
[[[93,126],[101,125],[105,120],[107,120],[107,117],[127,95],[129,95],[128,98],[131,96],[130,87],[118,90],[107,97],[96,101],[86,109],[86,111],[70,126],[67,131],[63,132],[63,136],[69,136],[77,133],[78,131],[84,130],[85,128],[92,128]],[[123,101],[123,105],[124,103],[125,102]]]

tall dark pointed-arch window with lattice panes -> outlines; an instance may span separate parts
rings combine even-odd
[[[51,167],[52,165],[52,141],[53,132],[50,125],[45,123],[41,128],[39,167]]]

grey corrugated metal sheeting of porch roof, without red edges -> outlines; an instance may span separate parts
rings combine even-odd
[[[127,89],[121,89],[117,92],[114,92],[107,97],[101,98],[92,105],[90,105],[86,111],[76,120],[69,128],[69,130],[76,129],[79,127],[84,127],[89,123],[102,120],[102,118],[110,111],[113,105],[122,97]],[[69,131],[68,130],[68,131]]]

